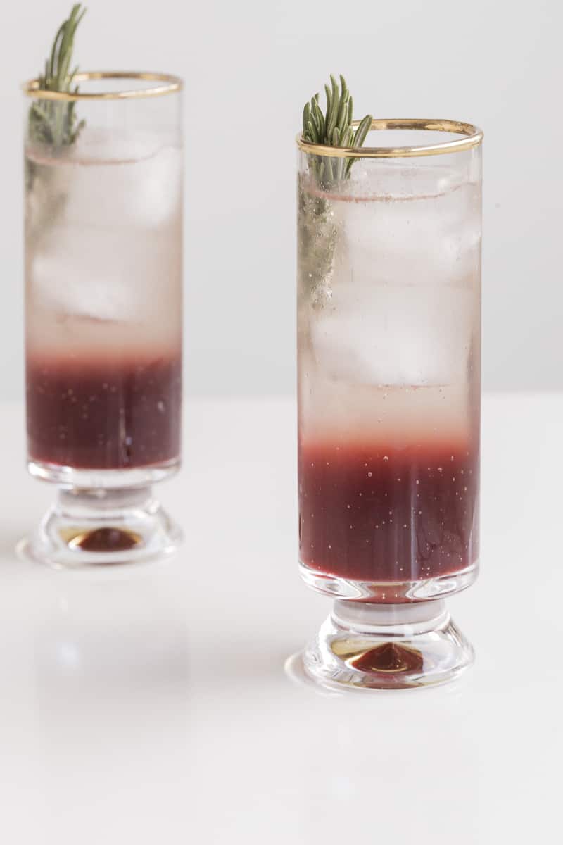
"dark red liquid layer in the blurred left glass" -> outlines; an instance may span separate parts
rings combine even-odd
[[[180,454],[181,357],[143,363],[27,361],[28,453],[83,469],[127,469]]]

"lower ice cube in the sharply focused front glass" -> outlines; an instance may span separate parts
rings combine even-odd
[[[313,356],[352,384],[449,384],[467,365],[472,292],[441,285],[366,285],[338,292],[311,319]]]

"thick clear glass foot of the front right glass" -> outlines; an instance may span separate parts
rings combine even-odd
[[[445,684],[474,661],[446,602],[334,602],[303,652],[312,679],[333,689],[406,690]]]

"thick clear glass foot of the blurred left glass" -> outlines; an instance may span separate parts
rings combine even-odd
[[[59,489],[33,537],[19,543],[26,559],[57,569],[160,559],[181,543],[151,488]]]

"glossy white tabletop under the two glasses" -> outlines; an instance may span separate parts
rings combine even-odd
[[[52,489],[0,411],[1,842],[559,841],[563,395],[485,398],[474,668],[373,695],[284,673],[330,606],[296,571],[292,401],[190,401],[160,488],[186,544],[108,580],[15,558]]]

